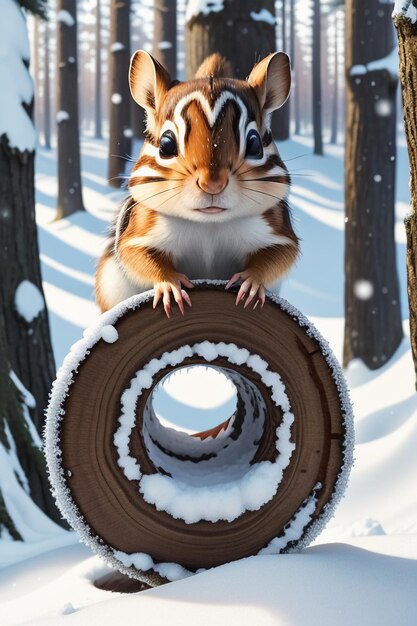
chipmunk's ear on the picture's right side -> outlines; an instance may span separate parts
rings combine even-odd
[[[274,52],[259,61],[248,77],[256,91],[261,109],[266,113],[279,109],[291,90],[291,65],[285,52]]]

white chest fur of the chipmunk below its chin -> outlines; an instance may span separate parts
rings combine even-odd
[[[169,253],[177,271],[191,279],[230,278],[245,269],[248,254],[288,243],[290,240],[275,234],[261,216],[210,223],[161,214],[148,235],[129,241],[133,246]]]

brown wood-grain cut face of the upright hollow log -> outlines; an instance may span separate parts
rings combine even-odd
[[[283,532],[318,482],[323,487],[314,519],[320,514],[343,465],[344,423],[336,384],[320,346],[296,320],[271,301],[262,311],[243,311],[235,306],[234,293],[206,286],[194,290],[193,307],[185,317],[176,310],[166,319],[162,310],[154,311],[148,302],[120,318],[116,328],[117,342],[99,341],[78,368],[61,427],[63,467],[71,471],[68,487],[105,544],[126,553],[149,553],[155,562],[198,569],[259,552]],[[232,522],[186,524],[143,501],[138,483],[129,481],[117,465],[113,435],[120,396],[135,373],[165,351],[203,340],[236,343],[261,356],[280,374],[295,415],[292,439],[296,449],[276,495],[260,510],[246,512]],[[196,357],[188,362],[206,363]],[[272,459],[276,451],[271,442],[282,415],[267,389],[246,366],[232,366],[220,358],[210,365],[235,368],[258,386],[267,417],[254,461]],[[166,371],[155,377],[154,384]],[[137,405],[131,445],[145,473],[155,471],[140,436],[142,410],[150,392]]]

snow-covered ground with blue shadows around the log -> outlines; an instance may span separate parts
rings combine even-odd
[[[58,223],[52,222],[55,155],[39,150],[37,160],[42,270],[57,365],[96,319],[94,264],[123,196],[106,184],[105,144],[84,138],[82,151],[88,213]],[[309,141],[300,138],[283,144],[281,152],[293,177],[291,199],[303,250],[282,295],[312,319],[340,358],[343,151],[327,147],[325,158],[314,157]],[[397,198],[407,335],[402,221],[409,191],[402,139]],[[121,596],[92,585],[108,567],[74,533],[39,520],[24,544],[0,540],[0,624],[416,624],[417,396],[407,337],[384,368],[372,373],[354,362],[347,379],[356,420],[356,463],[345,498],[314,546],[298,554],[252,557],[163,588]],[[225,393],[224,405],[229,404]]]

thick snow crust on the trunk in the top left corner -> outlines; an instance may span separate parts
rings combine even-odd
[[[33,82],[24,62],[30,58],[26,19],[15,0],[0,7],[0,137],[12,148],[33,152],[36,133],[23,104],[33,99]]]

